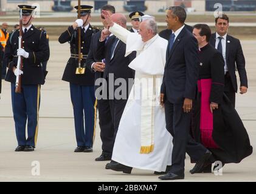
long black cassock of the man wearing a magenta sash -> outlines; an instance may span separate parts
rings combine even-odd
[[[249,136],[244,128],[234,106],[224,95],[224,60],[223,56],[210,44],[202,47],[199,51],[199,81],[211,79],[210,102],[218,103],[218,109],[213,110],[213,129],[211,139],[215,146],[204,143],[200,122],[201,120],[201,97],[198,92],[193,103],[192,136],[197,142],[201,142],[212,153],[216,161],[224,163],[238,163],[243,158],[251,155],[252,146]],[[195,161],[192,161],[195,162]],[[213,161],[211,161],[213,162]]]

